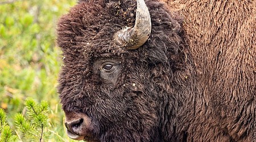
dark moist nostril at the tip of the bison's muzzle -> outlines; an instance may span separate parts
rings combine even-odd
[[[77,119],[72,122],[65,122],[65,127],[68,129],[68,131],[77,134],[82,129],[82,123],[84,122],[84,119]]]

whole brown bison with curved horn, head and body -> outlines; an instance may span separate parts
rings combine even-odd
[[[256,141],[256,1],[80,0],[57,24],[68,136]]]

